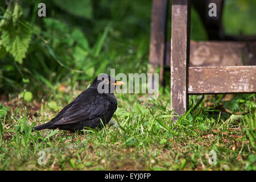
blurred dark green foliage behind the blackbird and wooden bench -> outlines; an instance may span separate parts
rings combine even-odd
[[[40,2],[46,3],[45,18],[38,16]],[[7,11],[6,1],[0,6],[2,95],[16,96],[26,89],[42,98],[49,90],[57,92],[61,84],[85,89],[86,82],[110,68],[116,74],[147,72],[149,0],[14,0]],[[256,34],[255,8],[256,1],[226,0],[226,33]],[[191,39],[208,39],[193,7]]]

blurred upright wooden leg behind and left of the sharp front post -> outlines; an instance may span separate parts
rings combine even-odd
[[[150,34],[150,69],[154,73],[160,66],[160,84],[163,84],[163,66],[166,51],[166,24],[167,24],[167,0],[153,0],[151,12],[151,34]]]

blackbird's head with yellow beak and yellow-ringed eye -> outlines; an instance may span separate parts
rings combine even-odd
[[[114,94],[115,86],[123,84],[125,84],[125,82],[117,81],[114,77],[106,73],[102,73],[93,80],[93,83],[90,85],[90,87],[97,89],[98,93]]]

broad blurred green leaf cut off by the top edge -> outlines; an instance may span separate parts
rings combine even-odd
[[[70,14],[81,16],[83,18],[92,18],[92,2],[90,0],[83,1],[70,1],[59,0],[54,3],[61,9],[67,11]]]

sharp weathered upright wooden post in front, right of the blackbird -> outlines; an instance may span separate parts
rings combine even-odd
[[[187,66],[189,64],[190,10],[191,1],[172,0],[171,107],[179,115],[184,114],[188,109]]]

